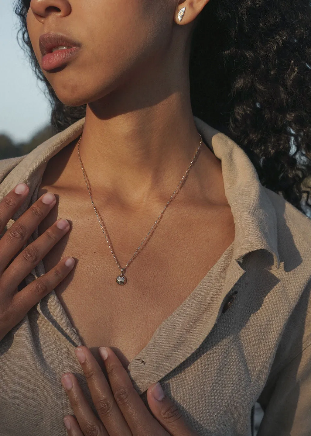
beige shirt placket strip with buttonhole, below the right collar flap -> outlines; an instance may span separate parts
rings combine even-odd
[[[210,334],[225,297],[245,272],[232,253],[233,244],[129,363],[127,371],[139,394],[189,358]]]

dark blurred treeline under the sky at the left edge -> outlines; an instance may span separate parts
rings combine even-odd
[[[52,135],[52,129],[49,124],[39,130],[28,142],[14,143],[9,136],[0,135],[0,159],[28,154],[38,145],[51,138]]]

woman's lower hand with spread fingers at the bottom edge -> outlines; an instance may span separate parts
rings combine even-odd
[[[106,359],[102,353],[105,349],[108,353]],[[81,359],[78,350],[82,351]],[[100,420],[85,399],[77,378],[71,373],[62,375],[62,384],[77,418],[65,416],[64,422],[67,420],[70,423],[70,429],[67,429],[69,436],[198,436],[186,424],[172,400],[166,395],[162,397],[161,386],[156,383],[147,390],[152,416],[112,349],[100,347],[99,352],[104,359],[111,388],[88,347],[75,349]],[[64,378],[71,381],[71,387],[70,383],[66,387]],[[159,390],[155,388],[152,391],[155,386]],[[159,400],[154,396],[156,392]]]

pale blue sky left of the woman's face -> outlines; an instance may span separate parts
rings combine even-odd
[[[16,39],[14,2],[1,0],[0,134],[27,141],[49,123],[50,106]],[[42,85],[41,85],[42,86]]]

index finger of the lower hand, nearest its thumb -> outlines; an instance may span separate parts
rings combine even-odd
[[[106,358],[105,350],[107,352]],[[122,415],[125,417],[132,434],[135,436],[145,436],[145,429],[148,429],[150,434],[167,436],[166,431],[146,408],[139,393],[133,387],[127,371],[112,349],[109,347],[100,347],[99,353],[104,359],[115,401]]]

